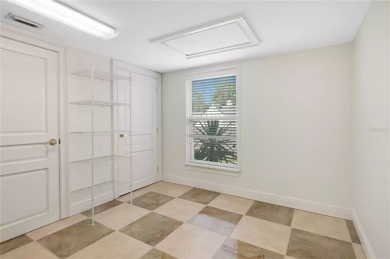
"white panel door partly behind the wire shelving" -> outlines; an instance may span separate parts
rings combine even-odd
[[[117,108],[118,130],[131,131],[131,139],[129,136],[118,139],[118,155],[131,156],[133,190],[136,190],[161,181],[157,172],[157,79],[122,68],[117,73],[130,77],[130,82],[117,83],[118,102],[131,105],[131,116],[129,108]],[[130,181],[129,172],[129,163],[118,164],[119,181]],[[129,191],[121,189],[119,195]]]

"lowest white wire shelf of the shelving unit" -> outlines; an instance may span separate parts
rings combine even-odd
[[[103,198],[103,197],[108,196],[110,194],[113,194],[115,190],[118,190],[121,188],[128,188],[128,187],[130,187],[130,185],[131,185],[130,182],[121,182],[121,181],[115,181],[115,180],[103,182],[101,184],[95,184],[94,185],[94,200]],[[83,198],[92,198],[92,186],[73,191],[73,192],[71,192],[71,195],[82,196]]]

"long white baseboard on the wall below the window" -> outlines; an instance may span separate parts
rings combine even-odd
[[[182,184],[186,186],[201,188],[209,191],[216,191],[218,193],[225,193],[233,196],[238,196],[250,200],[263,201],[285,207],[295,208],[298,210],[305,210],[327,216],[337,217],[341,219],[352,219],[352,210],[349,208],[341,208],[323,203],[316,203],[313,201],[300,200],[291,197],[285,197],[270,193],[262,193],[248,189],[239,189],[236,187],[225,186],[222,184],[213,184],[211,182],[203,182],[174,175],[163,175],[163,181],[172,182],[175,184]]]

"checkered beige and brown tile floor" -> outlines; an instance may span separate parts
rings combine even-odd
[[[351,221],[158,182],[0,244],[3,259],[365,259]]]

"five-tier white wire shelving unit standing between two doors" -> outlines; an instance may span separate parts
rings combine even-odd
[[[73,161],[72,163],[79,163],[82,165],[89,165],[92,170],[92,179],[91,186],[85,187],[76,191],[71,192],[71,195],[76,198],[82,198],[83,200],[90,199],[91,201],[91,210],[92,210],[92,225],[94,225],[94,201],[97,199],[101,199],[108,195],[114,194],[115,191],[124,188],[130,188],[131,193],[131,206],[133,206],[133,183],[132,183],[132,170],[131,170],[131,157],[129,156],[103,156],[99,158],[94,157],[94,137],[95,136],[112,136],[112,135],[120,135],[121,138],[125,136],[131,136],[131,131],[120,131],[120,130],[103,130],[103,131],[94,131],[94,107],[95,106],[122,106],[129,107],[131,109],[131,105],[129,103],[116,103],[111,101],[97,101],[94,100],[94,80],[104,80],[104,81],[116,81],[116,80],[130,80],[130,77],[124,77],[122,75],[116,75],[113,73],[108,73],[100,70],[94,69],[94,63],[91,62],[91,67],[83,70],[79,70],[76,72],[72,72],[73,75],[89,77],[91,79],[91,100],[82,100],[82,101],[73,101],[71,104],[79,104],[79,105],[91,105],[91,131],[76,131],[71,132],[72,134],[89,134],[92,138],[92,157],[90,159],[84,159],[79,161]],[[130,90],[131,91],[131,90]],[[131,94],[131,92],[130,92]],[[130,110],[131,114],[131,110]],[[131,137],[130,137],[131,141]],[[130,149],[131,149],[131,145]],[[131,154],[131,150],[130,150]],[[101,166],[114,165],[117,163],[122,163],[130,161],[130,182],[121,182],[118,180],[110,180],[107,182],[103,182],[100,184],[94,184],[94,168]]]

